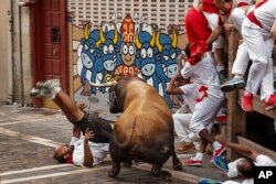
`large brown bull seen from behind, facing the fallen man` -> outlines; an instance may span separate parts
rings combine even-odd
[[[109,151],[113,169],[108,176],[119,174],[120,162],[131,164],[139,160],[152,164],[151,174],[170,180],[171,174],[162,171],[163,164],[172,156],[174,170],[182,164],[174,151],[173,121],[170,109],[155,88],[138,77],[121,77],[108,84],[110,112],[123,112],[115,121],[114,138]]]

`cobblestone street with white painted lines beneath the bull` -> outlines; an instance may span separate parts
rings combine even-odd
[[[198,183],[201,176],[220,180],[221,172],[209,163],[183,171],[171,170],[171,161],[164,169],[173,176],[171,182],[152,177],[150,165],[140,163],[123,167],[117,178],[106,176],[110,159],[94,169],[59,164],[53,150],[71,140],[72,126],[60,110],[0,105],[0,184],[8,183]],[[182,161],[192,154],[180,154]],[[206,156],[206,159],[210,159]]]

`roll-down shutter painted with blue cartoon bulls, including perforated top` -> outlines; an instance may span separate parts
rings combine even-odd
[[[177,56],[185,43],[183,18],[192,1],[68,0],[67,2],[67,20],[72,28],[70,58],[73,67],[73,94],[76,100],[79,96],[96,99],[100,95],[108,94],[105,89],[95,89],[88,84],[89,82],[105,83],[112,80],[115,75],[132,75],[140,71],[144,80],[164,97],[169,107],[178,104],[178,100],[174,101],[164,89],[177,71]],[[126,21],[127,17],[131,20]],[[132,22],[132,25],[128,26],[124,22]],[[112,41],[114,32],[118,33],[116,43]],[[104,39],[99,39],[100,33]],[[125,36],[132,39],[126,41]],[[150,40],[153,42],[149,42]],[[127,45],[126,48],[130,51],[128,46],[131,44],[135,47],[131,57],[135,58],[129,64],[126,58],[129,55],[123,53],[123,47]],[[140,44],[142,47],[139,47]],[[146,57],[140,54],[144,51],[147,53]],[[153,52],[153,56],[149,54],[150,52]]]

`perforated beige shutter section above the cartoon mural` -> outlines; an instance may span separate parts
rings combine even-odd
[[[180,24],[183,30],[183,14],[193,0],[67,0],[68,11],[74,13],[74,24],[82,26],[93,22],[96,28],[102,22],[114,18],[121,21],[127,13],[144,17],[149,24],[156,23],[160,29],[168,24]]]

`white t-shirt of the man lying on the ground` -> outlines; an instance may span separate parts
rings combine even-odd
[[[73,151],[73,163],[77,166],[83,166],[84,162],[84,139],[72,138],[71,145],[74,145]],[[95,143],[88,141],[92,154],[93,154],[93,165],[97,165],[104,161],[104,159],[109,153],[109,143]]]

